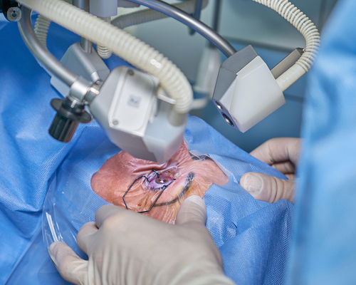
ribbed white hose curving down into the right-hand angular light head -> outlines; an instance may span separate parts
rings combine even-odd
[[[253,0],[277,11],[290,24],[300,31],[305,38],[305,52],[294,66],[277,78],[278,86],[286,90],[298,81],[313,66],[320,47],[320,33],[315,24],[288,0]]]

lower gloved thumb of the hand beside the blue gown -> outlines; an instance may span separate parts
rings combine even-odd
[[[274,203],[280,199],[293,202],[294,182],[262,173],[248,172],[241,177],[240,185],[256,200]]]

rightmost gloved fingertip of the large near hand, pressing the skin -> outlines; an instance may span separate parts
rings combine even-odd
[[[179,208],[176,224],[198,223],[205,225],[206,205],[199,196],[190,196]]]

